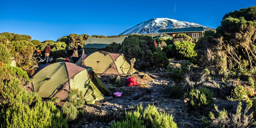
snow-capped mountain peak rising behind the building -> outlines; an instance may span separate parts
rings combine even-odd
[[[147,20],[140,24],[133,26],[130,29],[127,29],[120,35],[128,35],[132,33],[138,34],[153,34],[157,33],[159,29],[169,29],[169,28],[189,28],[189,27],[204,27],[204,29],[209,29],[209,27],[205,27],[196,23],[189,23],[186,21],[178,21],[169,18],[155,18],[151,20]]]

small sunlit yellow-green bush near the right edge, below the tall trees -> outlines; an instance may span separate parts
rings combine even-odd
[[[244,100],[248,97],[249,94],[250,92],[246,90],[242,85],[238,85],[232,90],[230,100]]]

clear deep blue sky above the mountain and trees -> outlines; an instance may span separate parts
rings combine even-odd
[[[0,33],[54,40],[71,33],[119,35],[153,18],[175,20],[217,28],[224,14],[256,5],[255,0],[0,0]]]

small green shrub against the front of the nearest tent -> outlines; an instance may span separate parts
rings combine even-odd
[[[84,105],[83,92],[78,89],[71,89],[68,93],[68,101],[76,108],[80,108]]]

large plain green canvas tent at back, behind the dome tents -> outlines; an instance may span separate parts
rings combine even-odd
[[[112,44],[113,42],[117,44],[122,44],[126,37],[128,36],[121,36],[115,38],[88,37],[83,47],[83,54],[90,54],[100,51],[101,48],[104,48],[109,44]]]

